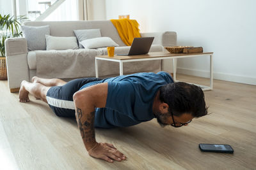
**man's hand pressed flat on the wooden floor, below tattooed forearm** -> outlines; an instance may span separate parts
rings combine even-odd
[[[113,162],[113,160],[122,161],[126,157],[123,153],[119,152],[112,144],[109,143],[95,143],[95,145],[88,150],[91,157]]]

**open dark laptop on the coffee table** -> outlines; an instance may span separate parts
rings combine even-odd
[[[153,40],[154,37],[134,38],[129,53],[122,53],[116,55],[140,55],[148,53],[153,43]]]

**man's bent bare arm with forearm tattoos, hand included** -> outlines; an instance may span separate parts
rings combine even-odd
[[[97,143],[94,131],[95,108],[104,108],[108,96],[108,83],[100,83],[79,90],[73,96],[76,120],[84,146],[89,155],[108,162],[124,160],[123,153],[109,143]]]

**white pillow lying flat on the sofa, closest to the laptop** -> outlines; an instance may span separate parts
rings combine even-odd
[[[85,39],[80,42],[84,48],[100,48],[106,46],[119,46],[118,44],[113,41],[113,39],[109,37],[99,37],[99,38],[92,38],[92,39]]]

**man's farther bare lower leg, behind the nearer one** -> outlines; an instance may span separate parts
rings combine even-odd
[[[45,85],[47,87],[61,86],[61,85],[65,85],[65,83],[67,83],[66,81],[63,81],[58,78],[40,78],[37,76],[33,76],[32,82],[33,83],[41,83],[42,85]]]

